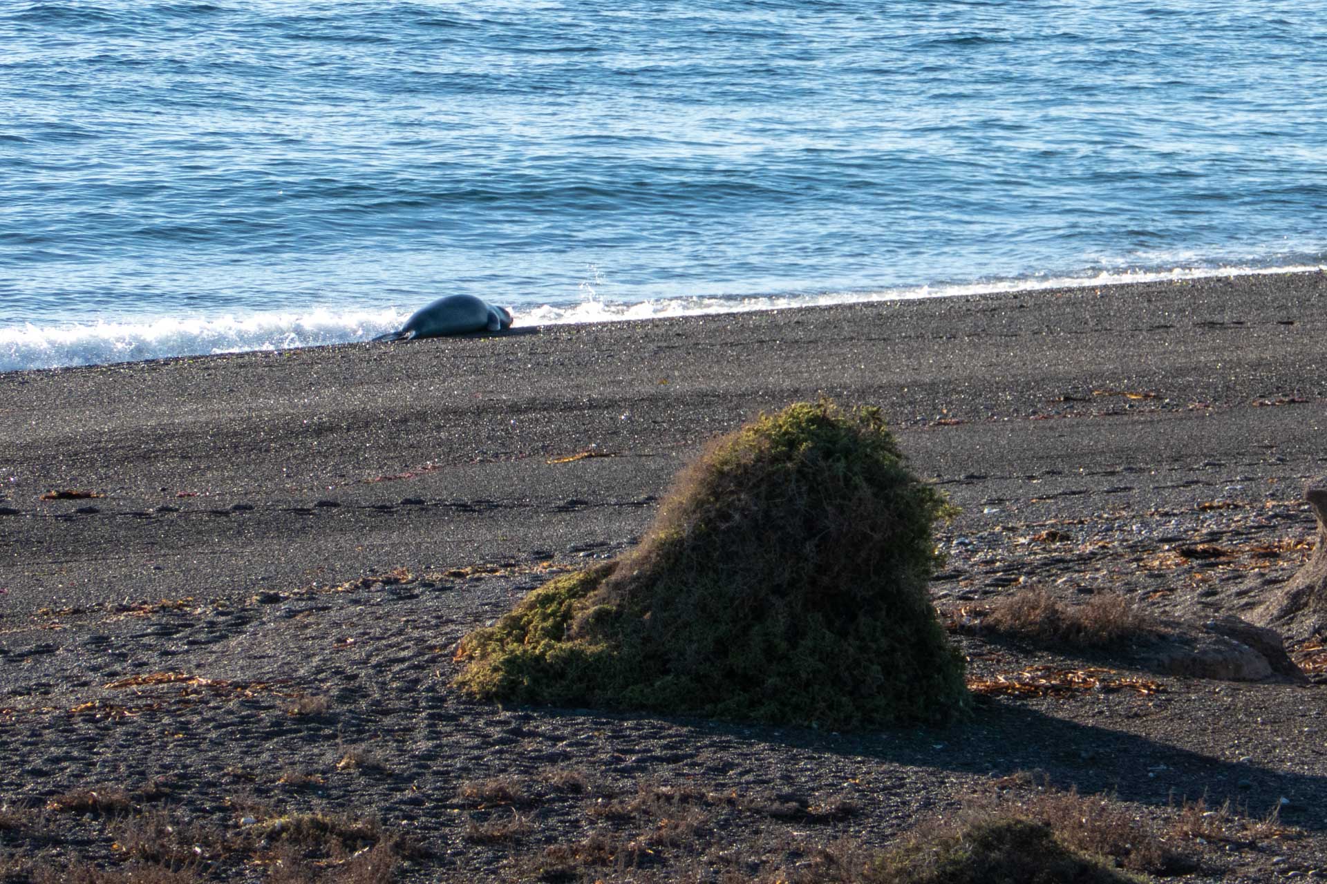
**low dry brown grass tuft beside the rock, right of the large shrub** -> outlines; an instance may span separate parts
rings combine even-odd
[[[1107,648],[1145,639],[1157,626],[1117,592],[1066,604],[1032,586],[993,604],[981,630],[1038,645]]]

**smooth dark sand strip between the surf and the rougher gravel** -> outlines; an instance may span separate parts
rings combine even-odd
[[[1250,276],[3,374],[0,584],[28,611],[620,543],[701,441],[819,392],[982,497],[1048,468],[1322,472],[1324,301],[1322,273]],[[584,451],[614,456],[548,463]],[[105,497],[37,500],[60,489]]]

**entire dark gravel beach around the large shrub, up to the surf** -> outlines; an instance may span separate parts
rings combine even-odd
[[[706,439],[820,394],[880,406],[962,508],[947,616],[1032,582],[1246,612],[1312,538],[1324,315],[1327,274],[1267,274],[3,374],[0,880],[186,859],[264,880],[280,839],[236,859],[219,832],[297,811],[372,819],[361,847],[407,835],[394,880],[778,880],[1034,769],[1182,843],[1184,880],[1327,876],[1312,645],[1290,648],[1307,681],[1235,683],[957,628],[974,679],[1162,691],[997,694],[940,732],[449,687],[463,634],[632,545]],[[64,807],[78,790],[122,806]],[[1279,822],[1177,834],[1204,797]],[[158,832],[184,859],[135,854],[167,816],[195,827]]]

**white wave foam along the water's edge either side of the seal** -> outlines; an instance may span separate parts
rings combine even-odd
[[[1063,288],[1091,288],[1125,282],[1200,280],[1271,273],[1327,270],[1320,265],[1278,268],[1231,266],[1220,269],[1105,270],[1091,276],[1019,277],[954,285],[920,285],[877,292],[824,292],[768,297],[679,297],[638,302],[601,300],[585,288],[585,298],[567,305],[515,306],[516,326],[624,322],[662,317],[747,313],[788,307],[961,297]],[[61,323],[0,327],[0,371],[139,362],[255,350],[289,350],[368,341],[401,327],[410,310],[318,309],[307,313],[273,311],[224,317],[159,317],[139,322]]]

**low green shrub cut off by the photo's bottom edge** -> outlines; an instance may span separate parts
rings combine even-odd
[[[917,843],[872,863],[880,884],[1143,884],[1109,860],[1062,844],[1050,826],[991,819],[937,842]]]

